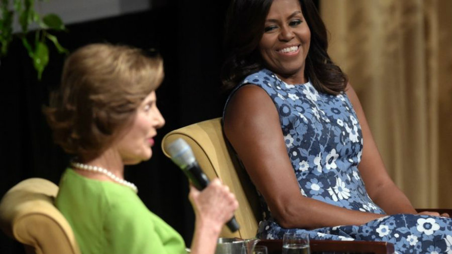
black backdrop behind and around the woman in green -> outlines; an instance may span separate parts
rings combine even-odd
[[[318,2],[318,1],[315,1]],[[58,39],[70,52],[96,42],[157,48],[164,59],[165,79],[157,90],[158,107],[166,119],[150,161],[128,166],[126,179],[139,188],[148,208],[173,226],[190,245],[194,215],[183,173],[160,148],[171,130],[220,117],[226,95],[219,70],[225,12],[229,1],[158,1],[149,11],[67,26]],[[1,59],[2,177],[0,194],[19,181],[42,177],[58,184],[70,157],[53,144],[41,113],[49,92],[59,86],[64,55],[50,46],[50,63],[42,81],[19,40]],[[23,246],[0,233],[1,253],[21,253]]]

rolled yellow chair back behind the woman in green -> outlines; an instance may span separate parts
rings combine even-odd
[[[27,252],[80,253],[71,226],[55,207],[58,186],[42,178],[23,180],[0,202],[0,225]]]

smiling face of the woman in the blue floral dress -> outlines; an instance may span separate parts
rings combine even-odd
[[[304,66],[310,39],[298,0],[274,0],[259,43],[266,67],[287,83],[307,82]]]

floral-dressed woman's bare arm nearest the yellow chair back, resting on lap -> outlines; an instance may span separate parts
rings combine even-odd
[[[287,154],[278,112],[263,89],[249,85],[235,93],[225,112],[224,132],[281,226],[360,225],[383,216],[349,210],[301,195]]]

